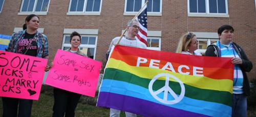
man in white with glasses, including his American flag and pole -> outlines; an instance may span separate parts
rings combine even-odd
[[[146,10],[146,4],[140,9],[138,14],[132,19],[127,22],[126,29],[127,31],[126,35],[124,35],[125,31],[120,37],[115,37],[110,44],[109,50],[106,52],[106,59],[108,60],[109,54],[111,50],[113,50],[113,45],[124,45],[124,46],[132,46],[134,48],[142,48],[146,49],[146,40],[147,40],[147,10]],[[115,109],[118,107],[111,107],[110,108],[110,116],[111,117],[119,117],[120,116],[120,110]],[[126,117],[133,117],[136,116],[136,114],[131,112],[125,111]]]

